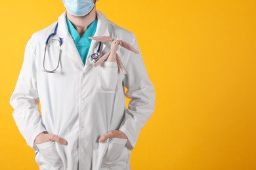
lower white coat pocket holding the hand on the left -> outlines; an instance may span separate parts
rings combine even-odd
[[[38,154],[41,154],[41,157],[43,157],[45,161],[49,163],[49,165],[54,167],[54,169],[64,169],[62,159],[56,150],[55,141],[47,141],[45,143],[39,143],[36,145],[40,152],[37,153],[37,156]]]

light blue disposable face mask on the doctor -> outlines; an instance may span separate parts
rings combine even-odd
[[[62,0],[62,2],[66,10],[74,16],[85,16],[95,7],[93,0]]]

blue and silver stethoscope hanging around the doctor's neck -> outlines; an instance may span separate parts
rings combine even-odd
[[[51,37],[53,37],[53,36],[56,35],[56,33],[57,33],[57,28],[58,28],[58,22],[57,22],[57,24],[56,24],[56,26],[55,26],[55,28],[54,28],[54,32],[51,33],[51,34],[49,35],[49,37],[47,37],[47,40],[45,41],[45,54],[46,54],[46,51],[47,51],[47,46],[48,46],[49,42],[51,42],[51,41],[50,41]],[[56,40],[56,39],[54,39],[54,40]],[[52,41],[53,41],[53,40],[52,40]],[[62,38],[59,37],[59,38],[58,38],[58,42],[59,42],[60,47],[61,47],[62,44],[63,44]],[[95,63],[95,62],[98,60],[98,57],[100,56],[100,54],[99,54],[99,53],[100,53],[100,46],[101,46],[101,42],[98,42],[98,49],[97,49],[97,52],[91,54],[91,59],[93,59],[93,63]],[[58,54],[58,65],[57,65],[57,67],[56,67],[54,70],[49,71],[49,70],[45,69],[45,54],[43,55],[43,70],[44,70],[45,72],[47,72],[47,73],[55,73],[56,69],[58,69],[58,65],[60,65],[60,56],[61,56],[61,54],[62,54],[61,48],[60,48],[60,52],[59,52],[59,54]]]

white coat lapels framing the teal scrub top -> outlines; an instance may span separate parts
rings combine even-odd
[[[98,18],[98,24],[96,27],[95,37],[97,36],[106,36],[108,37],[110,35],[109,29],[108,29],[108,20],[106,19],[106,16],[100,12],[99,10],[96,10],[96,16]],[[83,61],[81,60],[79,56],[79,52],[77,51],[77,48],[75,46],[74,40],[72,39],[70,33],[68,32],[68,25],[66,24],[66,11],[63,12],[58,17],[58,29],[57,29],[57,36],[62,38],[63,44],[61,46],[62,54],[67,55],[69,58],[75,61],[76,64],[78,64],[80,67],[87,67],[91,63],[91,54],[95,53],[98,48],[98,41],[92,40],[91,45],[89,48],[89,52],[87,55],[87,61],[85,63],[85,66],[83,65]],[[100,52],[104,50],[106,47],[106,44],[102,43],[102,47]]]

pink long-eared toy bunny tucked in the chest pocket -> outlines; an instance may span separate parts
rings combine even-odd
[[[98,61],[96,61],[96,63],[93,64],[95,67],[97,65],[100,65],[100,63],[102,63],[107,58],[106,61],[117,61],[117,65],[120,67],[121,71],[123,71],[124,74],[127,74],[127,71],[121,61],[121,58],[116,53],[118,46],[121,45],[124,48],[126,48],[127,50],[131,50],[132,52],[139,54],[138,50],[133,48],[133,46],[131,46],[128,42],[125,42],[122,40],[116,40],[116,39],[112,39],[111,37],[106,37],[106,36],[89,37],[89,39],[93,39],[93,40],[101,41],[101,42],[107,42],[107,41],[111,42],[110,52],[104,54],[104,56],[102,56],[102,58],[98,59]]]

